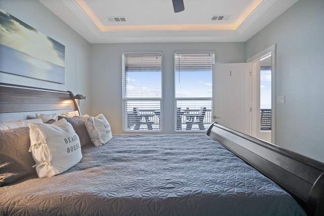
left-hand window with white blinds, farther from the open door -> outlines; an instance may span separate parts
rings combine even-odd
[[[123,53],[124,132],[161,131],[162,54]]]

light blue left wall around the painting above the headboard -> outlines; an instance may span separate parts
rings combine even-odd
[[[90,96],[90,43],[37,0],[0,0],[0,8],[65,46],[65,84],[0,72],[0,82],[72,91]],[[89,97],[91,98],[91,97]],[[80,103],[84,113],[91,103]]]

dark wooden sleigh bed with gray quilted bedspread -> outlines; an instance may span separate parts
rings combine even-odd
[[[61,113],[64,119],[74,119],[64,117],[81,114],[73,97],[71,92],[0,83],[0,122],[33,119],[35,113]],[[19,128],[27,136],[25,141],[16,137],[16,145],[29,140],[28,127]],[[85,131],[74,129],[84,143]],[[0,131],[2,153],[10,130],[15,129]],[[0,215],[324,212],[324,164],[216,122],[207,134],[113,135],[103,145],[82,145],[80,152],[82,159],[60,174],[38,178],[33,169],[2,185]],[[35,163],[31,155],[19,159]],[[1,168],[6,161],[0,162]]]

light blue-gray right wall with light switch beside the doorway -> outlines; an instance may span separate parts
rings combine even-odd
[[[246,42],[246,57],[277,45],[276,144],[324,162],[324,1],[300,0]]]

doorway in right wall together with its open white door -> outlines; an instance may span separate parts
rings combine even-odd
[[[213,66],[213,121],[275,144],[275,50]]]

